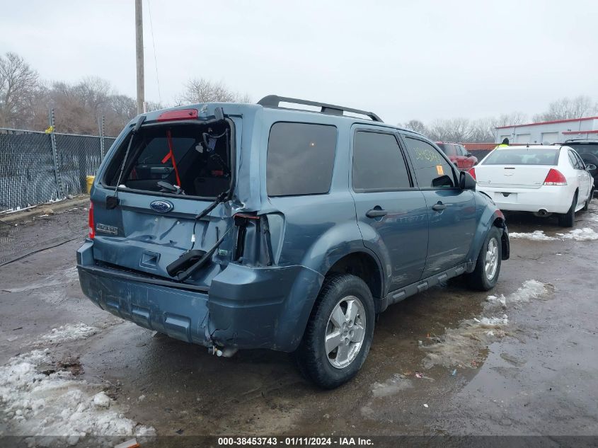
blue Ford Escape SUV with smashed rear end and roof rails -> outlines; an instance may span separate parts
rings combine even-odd
[[[267,96],[132,120],[77,268],[116,316],[217,355],[292,352],[330,389],[362,366],[377,313],[457,275],[491,289],[508,257],[505,217],[429,139]]]

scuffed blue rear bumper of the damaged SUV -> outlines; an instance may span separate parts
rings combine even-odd
[[[229,263],[209,290],[96,265],[93,241],[77,251],[84,294],[101,309],[188,343],[222,348],[297,348],[323,276],[303,266]]]

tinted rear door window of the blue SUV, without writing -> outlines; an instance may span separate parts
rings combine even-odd
[[[393,134],[358,131],[352,171],[353,190],[357,193],[411,187],[405,159]]]

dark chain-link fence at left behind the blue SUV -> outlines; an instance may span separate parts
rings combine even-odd
[[[0,212],[85,193],[114,141],[0,128]]]

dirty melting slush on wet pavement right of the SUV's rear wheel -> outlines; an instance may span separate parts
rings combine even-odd
[[[512,294],[488,296],[484,306],[486,316],[466,319],[459,323],[457,328],[447,328],[444,335],[429,338],[432,344],[421,345],[422,350],[427,352],[423,360],[425,369],[435,365],[475,369],[478,362],[483,360],[483,352],[488,345],[509,334],[507,314],[497,316],[497,311],[500,308],[507,308],[509,304],[527,302],[550,294],[552,291],[551,285],[537,280],[527,280]]]

